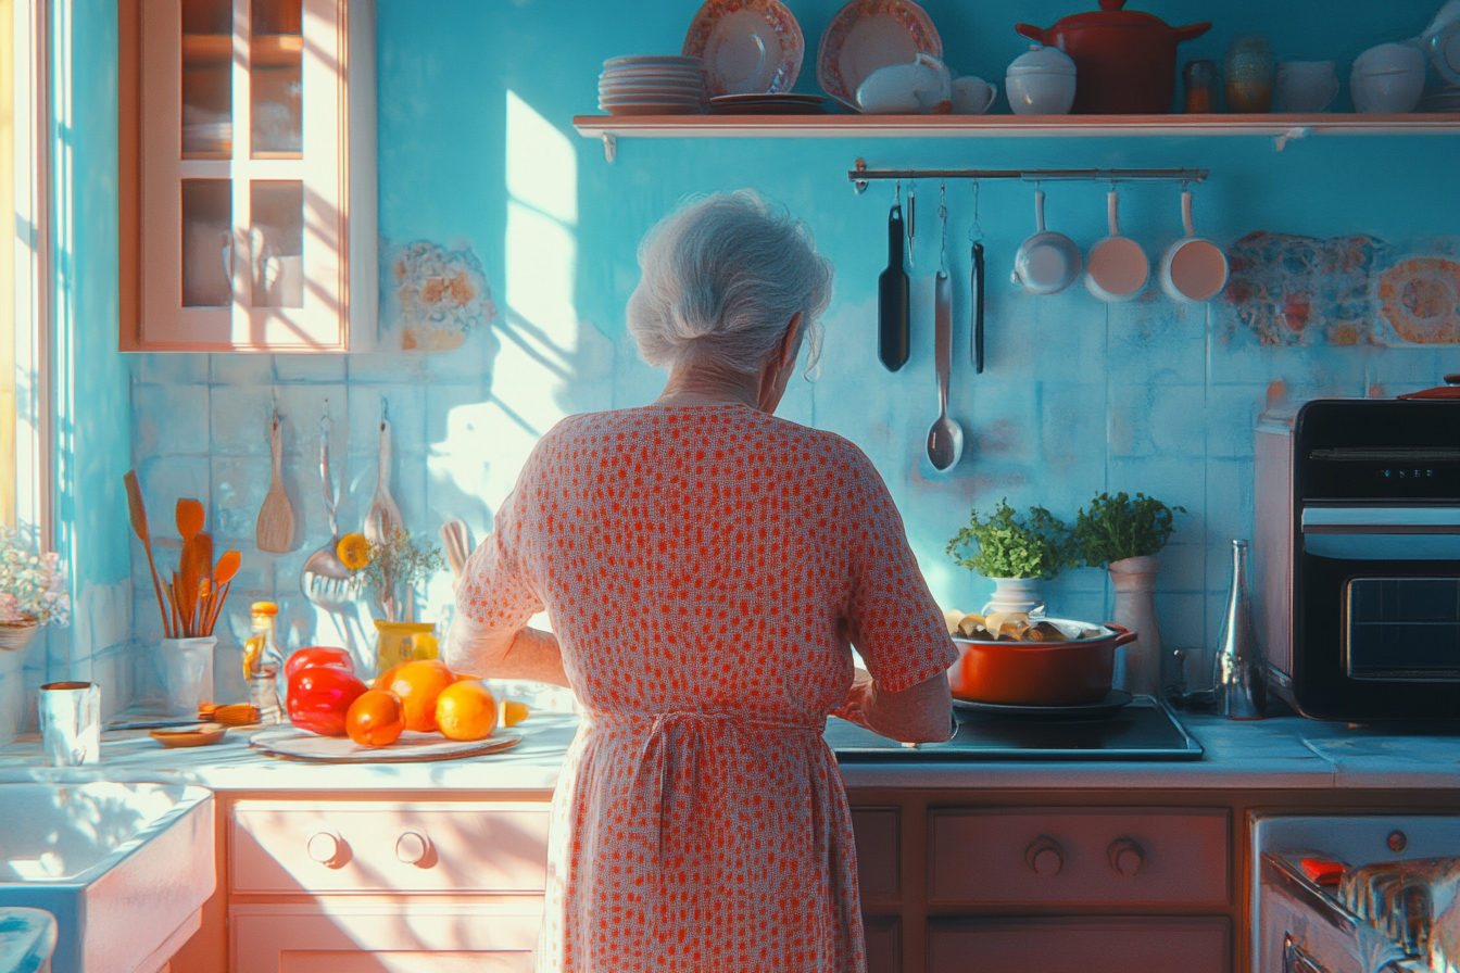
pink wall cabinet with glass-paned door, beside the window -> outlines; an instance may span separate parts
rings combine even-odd
[[[368,1],[139,4],[140,301],[124,350],[369,344],[374,77],[350,61],[374,50],[349,10]]]

